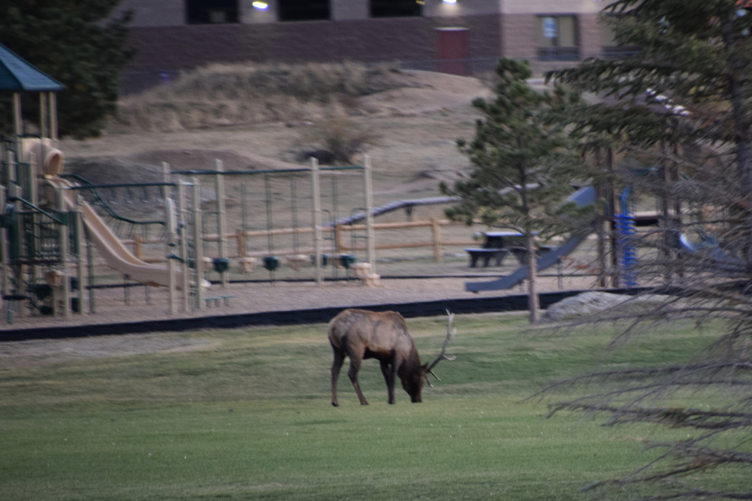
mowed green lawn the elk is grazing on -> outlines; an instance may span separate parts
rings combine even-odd
[[[435,356],[445,319],[408,324],[423,360]],[[400,388],[387,405],[366,361],[371,405],[358,405],[346,362],[332,407],[324,324],[163,333],[172,349],[0,367],[0,499],[581,499],[585,484],[653,457],[644,439],[686,432],[546,419],[544,402],[521,400],[711,339],[677,324],[610,355],[613,332],[528,330],[524,315],[455,324],[457,358],[421,404]]]

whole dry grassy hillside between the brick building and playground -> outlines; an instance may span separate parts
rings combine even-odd
[[[299,166],[344,149],[374,164],[381,201],[435,195],[462,176],[455,146],[472,137],[470,102],[489,94],[475,78],[401,71],[389,65],[210,65],[123,98],[103,137],[62,140],[68,171],[96,182],[147,178],[139,166],[174,170]],[[347,163],[340,161],[339,163]],[[129,167],[131,166],[131,167]],[[139,179],[132,179],[138,181]]]

